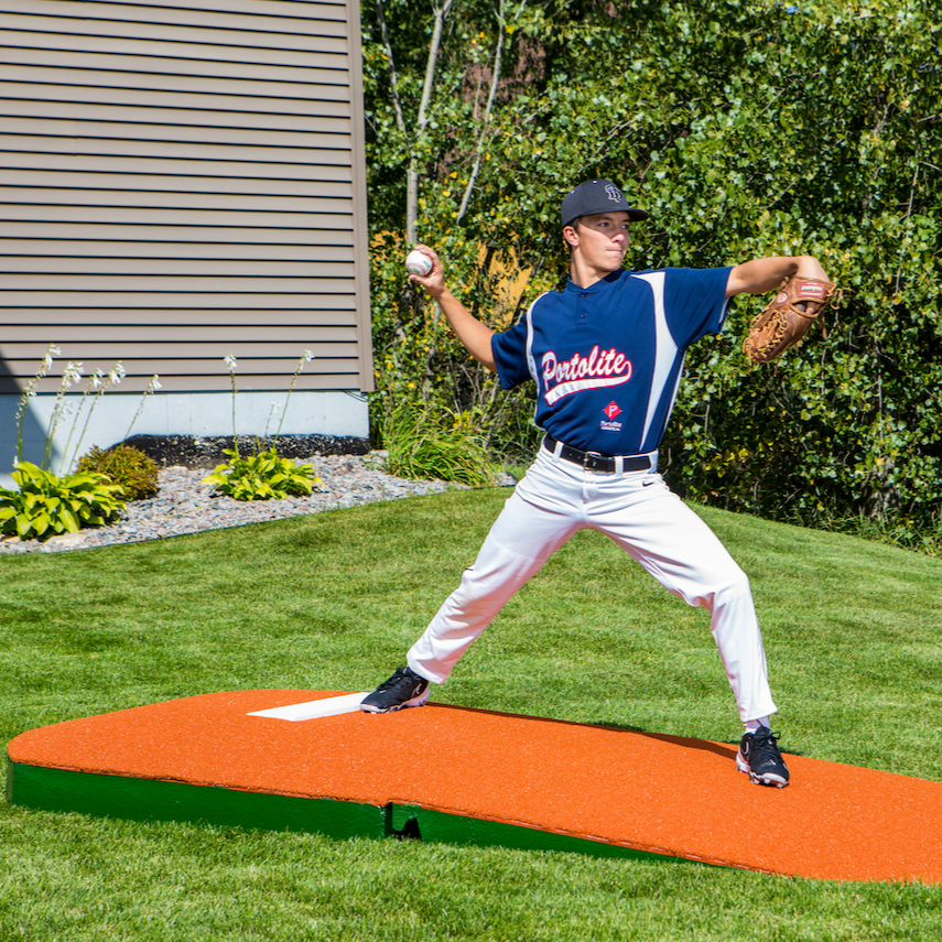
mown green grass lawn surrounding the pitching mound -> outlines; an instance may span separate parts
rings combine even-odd
[[[2,556],[3,741],[213,691],[371,689],[403,662],[506,497],[456,491],[166,542]],[[942,561],[700,512],[751,577],[786,750],[942,780]],[[550,561],[433,699],[727,741],[740,734],[706,614],[596,533]],[[773,843],[776,833],[770,814],[743,840]],[[0,862],[0,942],[942,935],[942,887],[6,803]]]

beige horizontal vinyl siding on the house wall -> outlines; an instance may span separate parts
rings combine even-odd
[[[0,12],[0,391],[50,344],[123,390],[229,390],[230,354],[286,389],[305,350],[295,388],[370,390],[358,7]]]

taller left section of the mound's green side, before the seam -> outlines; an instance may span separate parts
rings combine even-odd
[[[7,801],[37,811],[297,831],[339,840],[390,833],[389,813],[371,804],[51,769],[9,759]]]

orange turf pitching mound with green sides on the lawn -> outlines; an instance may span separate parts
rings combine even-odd
[[[788,756],[789,788],[760,788],[736,771],[733,745],[434,703],[299,722],[251,715],[342,695],[356,710],[338,692],[236,691],[34,729],[9,744],[8,799],[138,820],[942,883],[939,782]]]

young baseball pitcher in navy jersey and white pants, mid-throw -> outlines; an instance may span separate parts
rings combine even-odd
[[[368,713],[421,706],[444,683],[507,600],[577,530],[610,537],[658,582],[711,614],[744,735],[736,767],[783,788],[789,770],[769,728],[776,712],[749,582],[710,528],[658,474],[658,446],[673,408],[684,351],[718,333],[728,299],[778,288],[791,275],[825,280],[811,256],[754,259],[730,268],[621,268],[631,223],[647,219],[608,180],[581,183],[563,199],[571,250],[563,291],[538,297],[520,323],[496,334],[445,286],[427,246],[435,297],[468,351],[505,389],[533,380],[537,459],[494,523],[474,565],[399,668],[361,704]],[[813,303],[812,303],[813,308]]]

